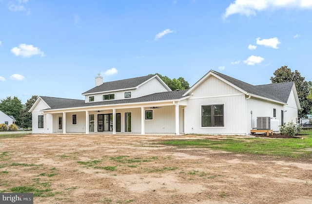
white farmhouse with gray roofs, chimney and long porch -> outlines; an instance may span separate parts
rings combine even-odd
[[[171,91],[157,75],[103,83],[85,100],[39,96],[33,133],[249,134],[257,117],[297,122],[293,82],[254,86],[213,70],[188,90]]]

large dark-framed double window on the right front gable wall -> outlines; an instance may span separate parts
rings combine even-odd
[[[201,106],[201,127],[224,127],[224,105]]]

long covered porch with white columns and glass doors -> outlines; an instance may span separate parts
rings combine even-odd
[[[43,111],[44,133],[181,134],[185,102]]]

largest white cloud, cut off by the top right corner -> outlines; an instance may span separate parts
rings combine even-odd
[[[226,8],[223,18],[233,14],[255,16],[258,11],[280,8],[312,9],[312,0],[235,0]]]

